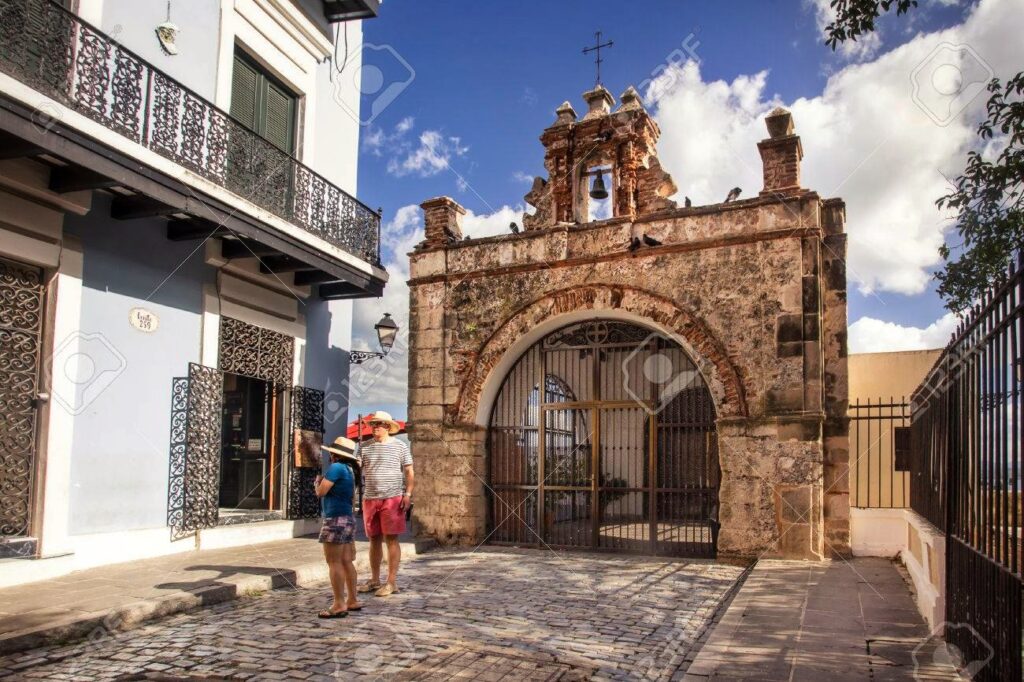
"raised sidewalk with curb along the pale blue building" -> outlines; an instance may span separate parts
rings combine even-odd
[[[3,621],[14,629],[0,632],[0,655],[52,644],[61,644],[81,639],[101,637],[109,632],[130,630],[139,625],[162,619],[173,613],[231,601],[279,588],[310,587],[324,584],[328,580],[327,564],[319,555],[319,544],[310,539],[296,539],[264,546],[261,555],[266,565],[252,565],[252,556],[238,551],[207,550],[191,552],[188,563],[159,569],[163,560],[135,561],[130,564],[103,566],[87,571],[66,576],[59,581],[42,581],[0,592]],[[432,540],[413,540],[401,543],[403,560],[422,554],[435,546]],[[356,543],[356,569],[366,573],[370,568],[369,544]],[[232,556],[234,555],[234,556]],[[228,563],[229,560],[232,560]],[[156,561],[156,563],[155,563]],[[387,559],[385,557],[385,565]],[[231,569],[238,571],[231,573]],[[96,576],[104,571],[146,571],[158,574],[153,580],[157,585],[119,584],[111,579],[102,589],[87,590],[83,586],[96,582]],[[206,578],[204,573],[217,571],[220,574]],[[248,571],[248,572],[247,572]],[[252,574],[260,571],[261,574]],[[93,576],[96,573],[96,576]],[[199,580],[197,580],[199,579]],[[136,581],[138,583],[138,581]],[[179,588],[174,586],[180,585]],[[69,595],[78,593],[63,608],[48,608],[53,603],[54,591],[67,590]],[[168,590],[160,594],[161,590]],[[39,593],[38,602],[33,598]],[[98,592],[98,594],[97,594]],[[133,592],[150,592],[153,596],[132,599]],[[9,595],[9,596],[8,596]],[[97,600],[109,598],[109,608],[95,608]],[[16,602],[16,603],[15,603]],[[17,612],[20,611],[20,612]],[[18,628],[22,620],[28,625]],[[42,621],[42,623],[39,623]]]

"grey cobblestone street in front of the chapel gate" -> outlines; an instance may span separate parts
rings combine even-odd
[[[440,551],[401,592],[321,621],[325,587],[279,590],[0,659],[18,679],[668,679],[741,568],[538,550]],[[689,654],[689,655],[688,655]]]

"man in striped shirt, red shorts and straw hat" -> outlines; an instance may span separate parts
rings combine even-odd
[[[362,525],[370,538],[371,579],[359,592],[387,597],[398,591],[395,580],[401,547],[398,536],[406,531],[406,510],[413,504],[413,456],[409,446],[391,437],[398,423],[378,411],[366,418],[374,439],[360,447],[362,468]],[[387,544],[387,583],[381,585],[383,545]]]

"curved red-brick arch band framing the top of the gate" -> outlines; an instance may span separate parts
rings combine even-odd
[[[546,334],[595,316],[633,322],[673,339],[703,377],[718,417],[748,416],[739,373],[724,345],[696,315],[636,287],[585,285],[527,303],[490,335],[462,381],[454,406],[457,421],[486,426],[504,377],[519,355]]]

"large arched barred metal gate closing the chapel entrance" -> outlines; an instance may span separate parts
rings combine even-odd
[[[671,339],[603,319],[549,335],[506,377],[487,445],[489,542],[715,556],[714,404]]]

